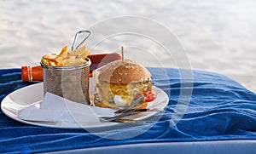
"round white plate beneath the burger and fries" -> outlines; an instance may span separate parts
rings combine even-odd
[[[92,82],[90,82],[92,83]],[[41,102],[44,98],[44,88],[43,83],[36,83],[30,86],[26,86],[24,88],[20,88],[15,90],[13,93],[7,95],[1,104],[1,109],[3,113],[18,121],[20,123],[26,123],[31,125],[37,126],[44,126],[50,128],[102,128],[102,127],[109,127],[115,126],[120,123],[84,123],[81,124],[61,124],[61,123],[51,123],[51,122],[30,122],[26,120],[22,120],[18,117],[19,111],[28,107],[32,106],[38,102]],[[93,94],[92,85],[90,85],[90,95]],[[160,88],[154,87],[156,92],[156,99],[153,102],[150,102],[148,105],[149,109],[158,109],[163,110],[169,101],[167,94],[162,91]],[[142,112],[133,116],[137,120],[143,120],[148,117],[153,116],[156,111],[149,111],[149,112]]]

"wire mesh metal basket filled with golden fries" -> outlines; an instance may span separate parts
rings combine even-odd
[[[89,76],[90,51],[86,46],[60,54],[46,54],[41,59],[44,77],[44,94],[52,93],[67,100],[90,104]]]

